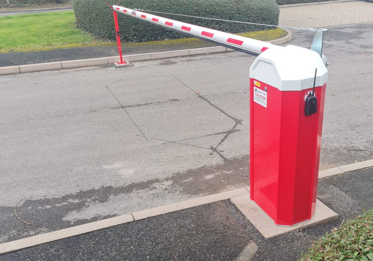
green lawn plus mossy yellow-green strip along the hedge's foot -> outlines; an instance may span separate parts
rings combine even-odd
[[[281,38],[286,34],[286,31],[277,28],[238,35],[269,41]],[[188,44],[189,48],[198,48],[204,47],[203,43],[205,42],[196,38],[181,38],[145,43],[122,43],[122,47],[126,48],[129,45],[141,47],[148,44]],[[0,16],[0,53],[82,45],[116,45],[116,43],[96,40],[93,35],[76,29],[74,11]]]

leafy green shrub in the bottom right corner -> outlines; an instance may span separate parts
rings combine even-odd
[[[322,236],[300,260],[373,260],[373,209]]]

